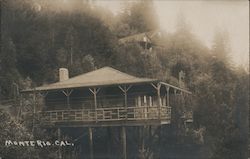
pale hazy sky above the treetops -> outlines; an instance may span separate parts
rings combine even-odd
[[[114,14],[121,0],[96,0]],[[211,47],[217,29],[228,32],[234,64],[249,68],[249,2],[247,0],[154,0],[161,29],[174,32],[178,15],[184,14],[192,32]]]

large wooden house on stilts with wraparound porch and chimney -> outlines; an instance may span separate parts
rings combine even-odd
[[[160,126],[171,122],[171,97],[191,94],[157,79],[138,78],[103,67],[69,78],[59,70],[59,82],[22,91],[44,97],[34,113],[45,127],[121,127],[126,158],[126,126]],[[91,141],[92,142],[92,141]],[[92,152],[93,153],[93,152]],[[93,158],[93,154],[91,155]]]

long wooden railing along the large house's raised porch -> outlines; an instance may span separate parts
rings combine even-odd
[[[160,111],[160,113],[159,113]],[[112,107],[93,109],[71,109],[38,112],[43,122],[93,122],[93,121],[122,121],[122,120],[170,120],[171,107]]]

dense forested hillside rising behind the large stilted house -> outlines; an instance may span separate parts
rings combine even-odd
[[[161,51],[145,53],[138,44],[118,40],[159,28],[153,2],[124,2],[117,15],[87,2],[58,2],[62,1],[1,1],[1,99],[14,97],[13,84],[24,89],[27,81],[31,87],[58,81],[60,67],[75,76],[111,66],[173,85],[182,70],[193,92],[194,123],[189,131],[163,131],[161,149],[192,145],[205,149],[206,156],[198,158],[246,158],[249,73],[231,64],[228,37],[222,31],[215,33],[208,48],[183,18],[174,33],[163,32]],[[3,117],[1,126],[8,122]],[[10,134],[19,132],[7,129]]]

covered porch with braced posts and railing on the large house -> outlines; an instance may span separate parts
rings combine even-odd
[[[160,83],[112,85],[37,92],[44,105],[37,111],[43,123],[80,125],[169,124],[169,94]]]

